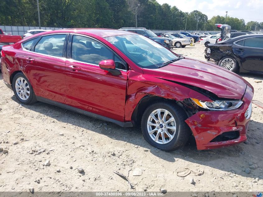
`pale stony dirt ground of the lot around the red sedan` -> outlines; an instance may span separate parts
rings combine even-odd
[[[174,51],[205,60],[204,49],[198,43]],[[254,100],[263,102],[263,83],[255,82],[263,76],[241,76],[254,87]],[[263,188],[263,109],[256,105],[246,143],[198,151],[190,139],[180,150],[163,152],[150,146],[139,128],[124,129],[41,102],[20,105],[2,76],[0,92],[0,147],[8,151],[8,154],[0,152],[0,191],[29,191],[29,188],[35,192],[160,191],[161,188],[259,191]],[[14,142],[17,144],[13,145]],[[49,166],[45,166],[47,160]],[[79,173],[78,167],[84,172]],[[176,175],[186,167],[192,171],[188,176]],[[130,189],[127,181],[113,171],[128,176],[136,189]],[[133,176],[135,172],[140,176]],[[195,185],[190,184],[192,178]]]

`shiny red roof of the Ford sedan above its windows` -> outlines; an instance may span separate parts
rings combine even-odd
[[[95,35],[102,38],[115,36],[115,35],[134,35],[134,33],[129,31],[123,30],[115,30],[115,29],[103,29],[103,28],[76,28],[76,29],[62,29],[62,30],[54,30],[52,34],[56,33],[76,33],[76,34],[83,34],[83,35]],[[50,34],[49,31],[45,31],[39,35]],[[33,38],[33,37],[31,37]]]

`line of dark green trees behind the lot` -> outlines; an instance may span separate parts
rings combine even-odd
[[[180,3],[180,2],[178,2]],[[63,28],[138,27],[159,30],[217,30],[214,24],[230,25],[233,30],[263,29],[263,22],[207,15],[194,10],[182,12],[176,6],[156,0],[39,0],[41,26]],[[0,25],[38,26],[36,0],[2,0]]]

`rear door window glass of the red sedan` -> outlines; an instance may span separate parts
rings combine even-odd
[[[45,55],[62,57],[65,34],[43,36],[35,46],[35,52]]]

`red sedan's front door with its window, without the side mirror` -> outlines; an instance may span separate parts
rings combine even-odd
[[[126,63],[90,37],[72,35],[66,60],[68,105],[124,122]],[[102,70],[99,62],[114,59],[120,75]]]

